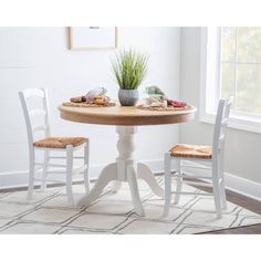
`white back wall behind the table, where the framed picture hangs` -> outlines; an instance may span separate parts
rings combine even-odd
[[[150,55],[149,73],[140,92],[146,85],[157,84],[178,97],[178,28],[119,28],[118,43],[119,48],[134,46]],[[114,51],[70,51],[65,28],[0,28],[0,177],[28,169],[27,134],[18,92],[30,87],[49,90],[54,135],[90,137],[92,166],[114,160],[113,126],[65,122],[56,109],[63,101],[96,86],[106,87],[116,97],[109,64],[113,56]],[[136,139],[136,157],[157,161],[178,140],[177,126],[140,127]],[[18,182],[18,175],[11,182]]]

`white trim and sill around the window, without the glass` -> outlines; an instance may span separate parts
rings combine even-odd
[[[221,28],[201,28],[200,122],[215,124],[220,97]],[[231,109],[228,127],[261,133],[261,116]]]

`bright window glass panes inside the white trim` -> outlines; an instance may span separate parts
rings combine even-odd
[[[234,111],[261,115],[261,28],[221,29],[221,96]]]

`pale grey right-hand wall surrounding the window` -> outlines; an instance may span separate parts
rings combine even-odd
[[[180,34],[180,98],[199,107],[200,28],[182,28]],[[181,143],[211,144],[213,125],[196,121],[180,125]],[[229,129],[226,145],[226,171],[261,184],[261,135]]]

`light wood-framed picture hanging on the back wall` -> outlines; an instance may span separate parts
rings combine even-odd
[[[116,27],[70,27],[70,50],[98,50],[117,48]]]

